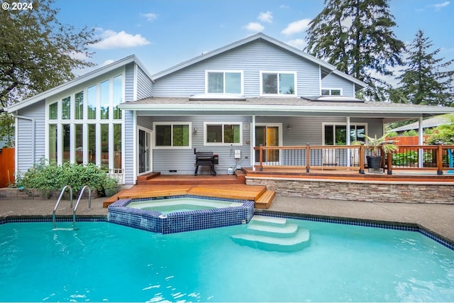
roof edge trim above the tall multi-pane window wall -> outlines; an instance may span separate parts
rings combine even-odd
[[[132,63],[132,62],[135,62],[135,64],[137,64],[145,73],[147,73],[148,77],[150,77],[150,79],[151,79],[151,76],[148,74],[147,70],[145,69],[145,67],[143,67],[143,64],[138,60],[138,58],[135,57],[135,55],[130,55],[130,56],[125,57],[125,58],[123,58],[121,60],[113,62],[113,63],[111,63],[109,65],[106,65],[106,66],[103,66],[103,67],[99,67],[98,69],[93,70],[92,72],[88,72],[87,74],[82,75],[80,77],[77,77],[75,79],[72,79],[71,81],[68,81],[68,82],[65,82],[63,84],[60,84],[57,87],[54,87],[52,89],[48,89],[45,92],[42,92],[40,94],[36,94],[35,96],[33,96],[31,98],[28,98],[28,99],[25,99],[25,100],[23,100],[21,102],[13,104],[13,105],[7,107],[6,111],[9,111],[10,113],[13,112],[13,111],[18,111],[19,109],[23,109],[26,106],[34,104],[35,102],[41,101],[41,100],[46,99],[48,97],[52,97],[55,94],[59,94],[60,92],[64,92],[67,89],[71,89],[72,87],[75,87],[75,86],[77,86],[79,84],[82,84],[84,82],[87,82],[87,81],[89,81],[91,79],[94,79],[96,77],[104,75],[107,72],[111,72],[113,70],[116,70],[118,67],[122,67],[124,65],[128,65],[129,63]]]

